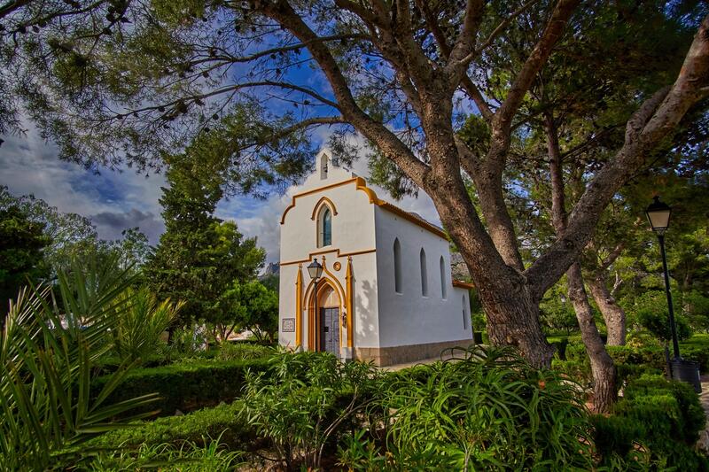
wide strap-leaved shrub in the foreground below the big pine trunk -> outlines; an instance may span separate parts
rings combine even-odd
[[[367,422],[380,425],[386,451],[378,449],[380,431],[359,433],[340,449],[340,463],[360,468],[366,457],[403,470],[591,468],[577,385],[507,349],[457,353],[387,378]]]

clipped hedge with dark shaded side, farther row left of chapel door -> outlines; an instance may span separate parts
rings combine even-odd
[[[197,360],[158,368],[136,368],[108,401],[119,402],[157,392],[160,400],[144,411],[160,410],[160,415],[175,414],[176,410],[189,412],[221,401],[233,401],[241,393],[245,370],[262,372],[268,365],[267,359]],[[94,395],[106,381],[107,377],[97,377],[91,386]]]

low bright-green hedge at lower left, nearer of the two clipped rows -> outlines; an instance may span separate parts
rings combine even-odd
[[[221,442],[231,450],[245,450],[253,443],[253,430],[241,420],[239,400],[227,405],[204,408],[183,416],[158,418],[139,426],[117,429],[91,439],[87,448],[137,447],[169,443],[181,446],[194,443],[204,446],[209,438],[220,435]]]

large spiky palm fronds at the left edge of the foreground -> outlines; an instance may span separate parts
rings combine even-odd
[[[0,469],[62,467],[73,460],[62,451],[147,415],[112,421],[155,395],[106,402],[133,362],[90,395],[92,366],[113,349],[116,317],[107,314],[124,313],[131,301],[119,297],[134,280],[117,262],[75,262],[58,271],[58,297],[50,287],[28,287],[11,303],[0,334]]]

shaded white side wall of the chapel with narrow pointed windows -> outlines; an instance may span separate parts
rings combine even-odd
[[[378,264],[379,343],[381,347],[428,344],[471,339],[471,323],[464,328],[462,297],[467,290],[454,288],[448,241],[420,226],[376,207]],[[402,293],[394,290],[393,244],[401,244]],[[420,251],[425,250],[428,296],[422,295]],[[445,268],[446,298],[440,288],[440,257]]]

